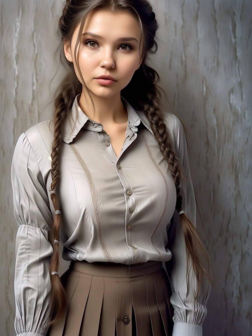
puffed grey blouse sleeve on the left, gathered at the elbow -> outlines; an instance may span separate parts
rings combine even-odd
[[[15,330],[19,336],[46,335],[50,293],[48,265],[53,253],[48,229],[52,214],[43,177],[25,133],[16,144],[11,182],[14,216],[19,226],[14,279]]]

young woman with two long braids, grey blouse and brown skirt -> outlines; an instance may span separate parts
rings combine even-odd
[[[183,128],[146,64],[156,30],[147,0],[65,3],[53,122],[12,164],[18,335],[202,334],[207,256]]]

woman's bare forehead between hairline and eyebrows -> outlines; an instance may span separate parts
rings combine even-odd
[[[87,32],[110,38],[135,37],[138,41],[141,35],[137,18],[127,11],[91,12],[83,28],[83,33]]]

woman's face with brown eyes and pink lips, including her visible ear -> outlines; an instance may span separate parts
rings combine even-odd
[[[71,44],[65,43],[65,55],[73,61],[76,76],[82,82],[74,57],[80,25]],[[139,68],[139,23],[127,12],[96,11],[84,25],[79,55],[79,67],[85,84],[94,98],[120,94]],[[71,58],[71,59],[70,59]]]

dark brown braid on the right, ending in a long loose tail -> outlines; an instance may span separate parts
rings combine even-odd
[[[182,197],[180,195],[180,183],[179,179],[182,175],[179,159],[173,149],[173,144],[170,140],[169,132],[164,123],[160,108],[160,91],[157,86],[157,81],[159,80],[156,71],[147,65],[142,65],[142,74],[145,75],[145,83],[143,90],[145,91],[143,99],[140,101],[142,110],[148,118],[151,128],[153,130],[154,136],[158,141],[160,151],[169,165],[171,175],[174,179],[176,186],[177,200],[176,200],[176,210],[180,212],[182,210]],[[157,76],[157,80],[155,79]],[[185,213],[180,215],[180,222],[182,225],[185,247],[186,247],[186,257],[187,257],[187,276],[188,269],[190,266],[190,261],[192,262],[196,278],[198,280],[198,285],[195,292],[195,301],[200,296],[200,285],[203,280],[203,276],[206,275],[208,282],[211,282],[210,276],[206,272],[205,268],[209,269],[209,258],[207,253],[199,239],[198,232],[189,220]],[[206,266],[205,266],[206,265]]]

